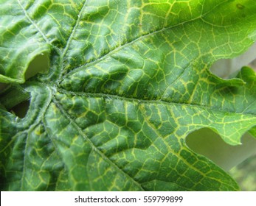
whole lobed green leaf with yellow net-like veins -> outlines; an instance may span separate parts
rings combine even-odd
[[[239,190],[185,138],[256,137],[255,72],[209,71],[255,41],[255,1],[0,2],[2,191]],[[27,94],[24,118],[7,111]]]

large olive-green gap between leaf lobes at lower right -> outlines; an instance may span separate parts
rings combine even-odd
[[[242,144],[231,146],[212,129],[202,128],[187,135],[187,146],[198,154],[208,157],[226,171],[255,154],[256,139],[246,133]]]

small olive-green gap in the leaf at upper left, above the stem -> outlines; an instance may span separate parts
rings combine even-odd
[[[35,76],[38,73],[44,73],[49,70],[49,54],[42,53],[36,56],[27,68],[25,79]]]

